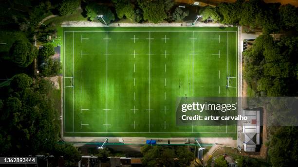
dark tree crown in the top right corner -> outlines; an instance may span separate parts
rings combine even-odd
[[[282,26],[285,29],[296,28],[296,30],[298,30],[297,16],[298,16],[298,9],[291,4],[282,5],[279,9],[279,17],[280,17]]]

